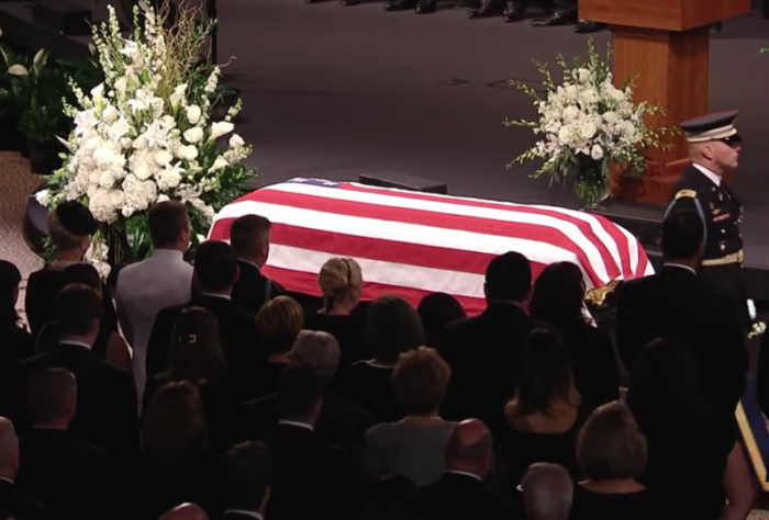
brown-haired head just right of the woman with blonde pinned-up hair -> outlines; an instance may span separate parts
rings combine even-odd
[[[425,342],[424,328],[414,307],[400,296],[380,296],[368,306],[364,351],[369,358],[395,363],[402,352]]]

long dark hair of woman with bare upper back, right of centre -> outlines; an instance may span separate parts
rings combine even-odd
[[[569,351],[555,329],[538,327],[523,342],[519,383],[506,412],[515,416],[548,414],[557,402],[579,404]]]

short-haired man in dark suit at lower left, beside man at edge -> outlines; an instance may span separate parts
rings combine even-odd
[[[34,427],[21,440],[16,485],[62,518],[101,520],[114,512],[115,472],[107,450],[68,431],[77,411],[75,375],[48,369],[32,381]]]

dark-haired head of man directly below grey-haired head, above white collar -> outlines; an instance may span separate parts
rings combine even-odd
[[[278,385],[280,418],[300,422],[314,421],[320,412],[323,382],[310,365],[291,364]]]

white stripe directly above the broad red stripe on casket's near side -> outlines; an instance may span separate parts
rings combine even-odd
[[[241,201],[224,206],[216,215],[214,226],[218,221],[237,218],[249,214],[265,216],[274,224],[283,224],[325,233],[339,233],[374,240],[394,240],[444,249],[480,252],[490,256],[502,255],[508,251],[521,251],[530,261],[535,263],[549,265],[555,262],[570,261],[582,268],[581,262],[571,251],[547,242],[457,229],[444,229],[417,224],[338,215],[335,213],[254,201]],[[212,226],[211,229],[213,229],[214,226]],[[601,265],[603,267],[603,263],[601,263]],[[603,283],[609,283],[610,280],[608,280],[605,269],[603,272],[604,275],[601,280]],[[593,286],[592,282],[587,276],[586,283],[588,283],[590,287]]]

